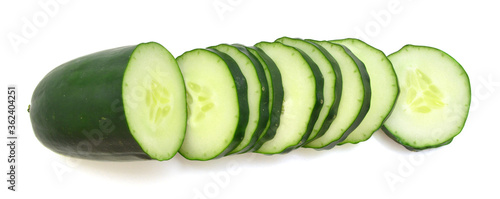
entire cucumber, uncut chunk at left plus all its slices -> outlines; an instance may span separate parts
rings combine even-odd
[[[157,43],[87,55],[39,83],[30,115],[38,139],[64,155],[210,160],[331,149],[381,128],[410,150],[437,147],[460,133],[469,107],[466,72],[438,49],[386,56],[358,39],[282,37],[176,59]]]

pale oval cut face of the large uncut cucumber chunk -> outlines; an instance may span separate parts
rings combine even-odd
[[[152,159],[168,160],[186,130],[184,80],[175,58],[157,43],[134,50],[123,79],[123,104],[129,129]]]

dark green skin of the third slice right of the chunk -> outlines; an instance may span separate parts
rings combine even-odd
[[[281,81],[281,73],[274,63],[274,61],[260,48],[255,46],[246,47],[248,51],[253,51],[257,53],[262,60],[266,63],[269,73],[271,74],[271,81],[273,82],[273,101],[269,102],[273,104],[269,115],[269,128],[261,134],[257,142],[255,142],[252,149],[248,152],[253,152],[258,150],[265,142],[271,140],[276,135],[276,130],[280,125],[281,118],[281,107],[283,106],[283,83]],[[252,53],[253,54],[253,53]]]

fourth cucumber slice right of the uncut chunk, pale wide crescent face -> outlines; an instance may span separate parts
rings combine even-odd
[[[276,63],[284,90],[276,135],[256,152],[286,153],[301,146],[312,132],[323,100],[323,77],[318,66],[300,50],[281,43],[261,42],[255,46]]]

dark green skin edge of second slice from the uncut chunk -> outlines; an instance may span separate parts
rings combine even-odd
[[[236,153],[246,153],[248,151],[251,151],[257,140],[261,137],[262,133],[264,133],[264,130],[266,129],[267,122],[269,120],[269,85],[267,84],[266,80],[266,74],[264,72],[264,68],[262,67],[262,64],[260,61],[250,53],[247,48],[243,45],[240,44],[233,44],[232,46],[236,47],[240,52],[245,54],[252,64],[255,67],[255,71],[257,72],[257,77],[259,78],[260,85],[262,87],[262,94],[260,96],[260,102],[259,102],[259,122],[257,123],[257,128],[255,129],[254,135],[252,136],[252,139],[250,140],[250,143],[240,151]]]

